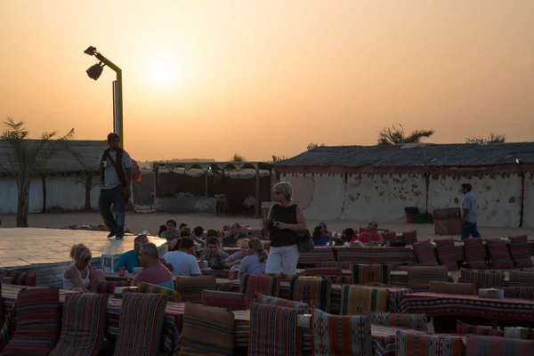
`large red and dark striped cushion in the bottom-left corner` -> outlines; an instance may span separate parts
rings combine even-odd
[[[58,288],[22,289],[17,296],[17,328],[2,355],[48,355],[61,333]]]

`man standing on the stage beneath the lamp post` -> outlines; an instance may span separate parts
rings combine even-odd
[[[108,135],[109,149],[102,151],[98,164],[102,184],[98,210],[108,226],[108,238],[115,239],[122,239],[125,234],[125,202],[130,198],[132,185],[132,158],[119,147],[119,142],[118,134]],[[111,204],[117,217],[111,213]]]

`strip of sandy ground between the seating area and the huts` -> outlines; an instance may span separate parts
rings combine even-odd
[[[15,214],[0,214],[2,221],[2,228],[16,227]],[[205,230],[215,229],[221,230],[223,225],[230,223],[241,223],[242,225],[250,226],[251,228],[259,228],[259,219],[242,216],[228,216],[228,215],[211,215],[211,214],[140,214],[140,213],[126,213],[126,224],[128,229],[134,233],[141,231],[149,231],[151,235],[156,235],[159,225],[165,224],[167,220],[174,219],[177,223],[187,223],[191,228],[195,226],[202,226]],[[101,217],[96,213],[63,213],[63,214],[30,214],[28,217],[28,224],[32,228],[52,228],[61,229],[69,225],[99,225],[101,224]],[[308,227],[313,230],[313,227],[318,225],[318,221],[308,221]],[[328,230],[342,231],[344,228],[352,227],[357,229],[360,226],[365,226],[366,222],[348,222],[343,220],[327,221]],[[379,227],[390,229],[392,231],[402,232],[417,230],[419,239],[434,239],[439,238],[434,234],[433,224],[408,224],[408,223],[379,223]],[[534,229],[524,228],[480,228],[481,235],[485,238],[497,238],[501,236],[514,236],[520,234],[527,234],[530,238],[534,238]]]

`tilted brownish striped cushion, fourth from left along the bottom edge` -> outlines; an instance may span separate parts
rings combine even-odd
[[[233,355],[234,314],[186,303],[180,355]]]

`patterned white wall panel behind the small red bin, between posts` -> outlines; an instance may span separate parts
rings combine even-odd
[[[422,174],[353,174],[347,179],[344,218],[352,221],[405,220],[406,206],[425,213],[425,178]]]

